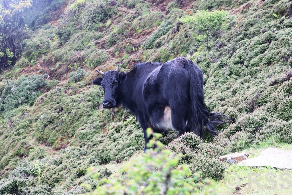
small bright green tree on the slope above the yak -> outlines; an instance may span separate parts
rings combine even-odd
[[[197,29],[197,34],[202,35],[201,39],[205,42],[205,48],[209,56],[211,44],[227,29],[227,15],[228,13],[224,10],[213,12],[201,10],[194,15],[181,18],[180,21],[194,25]]]

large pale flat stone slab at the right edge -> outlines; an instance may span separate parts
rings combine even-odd
[[[279,169],[292,169],[292,151],[267,148],[259,156],[248,158],[237,165],[248,167],[271,166]]]

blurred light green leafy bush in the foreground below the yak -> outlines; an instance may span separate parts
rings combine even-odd
[[[153,134],[148,129],[148,135]],[[155,134],[158,139],[161,134]],[[164,149],[160,141],[152,139],[150,149],[138,156],[134,161],[125,165],[119,174],[98,182],[100,173],[89,168],[89,174],[98,185],[95,189],[89,184],[82,184],[90,192],[86,195],[97,194],[215,194],[215,189],[208,186],[210,181],[196,183],[197,175],[190,172],[189,165],[178,165],[181,154],[174,154]]]

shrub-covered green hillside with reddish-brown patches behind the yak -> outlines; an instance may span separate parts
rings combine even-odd
[[[197,25],[182,20],[200,10],[227,13],[209,46]],[[185,56],[201,68],[207,108],[231,120],[215,138],[176,139],[171,131],[160,141],[223,194],[237,192],[223,187],[223,177],[242,170],[218,156],[291,149],[290,0],[53,0],[24,16],[25,48],[0,75],[0,194],[85,193],[82,182],[96,186],[88,167],[109,177],[142,153],[138,122],[121,108],[100,108],[102,87],[91,84],[96,69],[117,64],[128,71],[141,61]],[[46,165],[39,182],[30,172],[36,160]]]

